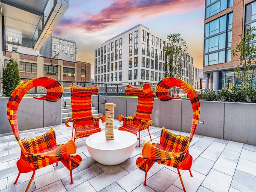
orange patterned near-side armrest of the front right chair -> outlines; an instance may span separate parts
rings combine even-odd
[[[155,151],[152,153],[152,151]],[[177,159],[178,157],[182,156],[185,154],[185,151],[175,153],[175,152],[168,152],[164,151],[160,148],[155,147],[148,141],[143,145],[143,149],[141,152],[143,157],[147,157],[151,160],[157,160],[157,161],[166,161],[166,160],[174,160]]]

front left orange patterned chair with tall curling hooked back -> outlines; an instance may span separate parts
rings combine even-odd
[[[26,188],[26,192],[34,178],[35,170],[53,163],[58,165],[58,162],[61,161],[64,166],[70,170],[70,184],[73,184],[72,169],[75,169],[81,163],[81,156],[74,154],[76,153],[76,144],[73,140],[70,140],[65,144],[57,145],[54,128],[51,128],[47,133],[39,137],[20,140],[17,124],[18,107],[26,92],[37,86],[45,87],[47,89],[47,95],[43,97],[34,97],[35,99],[56,102],[62,96],[63,87],[58,81],[48,77],[40,77],[25,81],[18,85],[12,92],[7,103],[7,117],[12,126],[13,134],[21,148],[20,159],[17,161],[19,174],[15,183],[18,181],[20,173],[33,172]]]

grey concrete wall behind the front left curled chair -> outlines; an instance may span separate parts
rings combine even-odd
[[[6,105],[9,98],[0,98],[0,134],[12,132],[6,115]],[[20,131],[48,127],[61,124],[61,100],[47,102],[23,97],[18,109],[18,126]]]

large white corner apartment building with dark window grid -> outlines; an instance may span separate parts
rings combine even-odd
[[[156,86],[165,77],[163,47],[169,43],[141,24],[128,29],[95,49],[95,82]],[[189,82],[193,58],[187,56],[181,62],[182,79]]]

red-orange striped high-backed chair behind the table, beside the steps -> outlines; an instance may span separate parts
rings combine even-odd
[[[91,87],[80,87],[76,84],[71,85],[71,108],[72,117],[67,119],[68,122],[73,122],[72,137],[74,134],[74,141],[81,137],[88,137],[91,134],[102,131],[99,127],[99,119],[105,122],[105,116],[92,115],[92,94],[98,94],[98,85],[94,84]]]

